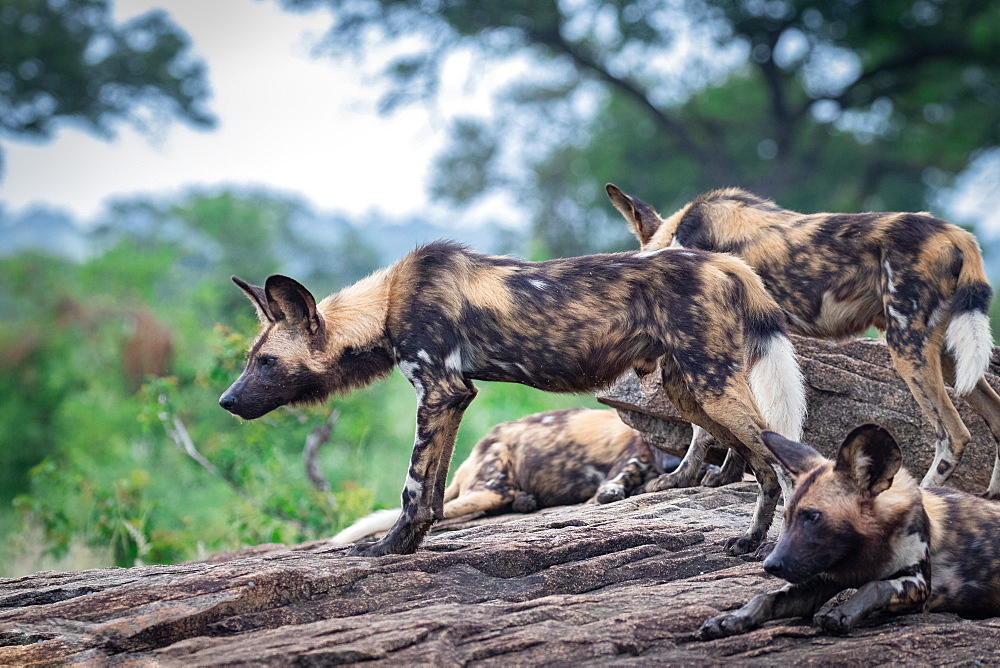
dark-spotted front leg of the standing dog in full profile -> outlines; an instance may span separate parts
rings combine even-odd
[[[412,370],[409,375],[414,375]],[[417,429],[403,487],[402,512],[381,540],[359,543],[348,553],[351,556],[410,554],[434,521],[443,517],[445,480],[455,436],[476,389],[461,378],[434,381],[414,375],[410,380],[417,389]]]

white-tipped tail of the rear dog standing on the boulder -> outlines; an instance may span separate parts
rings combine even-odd
[[[955,391],[968,394],[986,373],[993,352],[993,333],[987,315],[993,289],[986,279],[976,238],[961,228],[955,228],[950,236],[962,252],[962,268],[951,299],[945,349],[955,360]]]

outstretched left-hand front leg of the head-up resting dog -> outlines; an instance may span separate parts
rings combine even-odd
[[[815,613],[840,587],[813,578],[802,584],[787,584],[769,594],[758,594],[739,610],[713,617],[698,629],[702,640],[746,633],[772,619],[806,617]]]

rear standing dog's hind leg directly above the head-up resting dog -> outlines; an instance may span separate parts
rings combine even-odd
[[[902,285],[906,285],[903,283]],[[934,432],[935,453],[930,469],[920,484],[937,487],[943,484],[972,440],[944,386],[941,368],[941,341],[946,322],[938,331],[927,328],[926,308],[914,309],[912,300],[899,298],[893,291],[885,299],[885,341],[893,366],[913,394]]]

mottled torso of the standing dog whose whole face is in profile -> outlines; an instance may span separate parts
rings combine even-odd
[[[736,262],[690,250],[523,262],[439,242],[416,251],[389,329],[404,358],[424,351],[468,378],[547,391],[601,387],[695,340],[704,375],[727,375],[713,360],[743,340],[740,299],[769,304],[777,332],[784,321],[763,289],[727,278]]]

